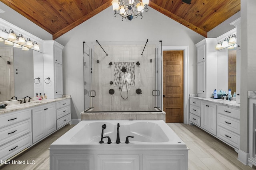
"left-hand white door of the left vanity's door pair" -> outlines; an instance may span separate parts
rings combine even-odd
[[[42,139],[46,135],[45,131],[45,113],[43,107],[39,107],[32,110],[32,134],[33,143]]]

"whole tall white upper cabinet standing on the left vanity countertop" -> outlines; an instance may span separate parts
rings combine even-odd
[[[62,49],[56,41],[44,41],[44,92],[49,99],[63,95]]]

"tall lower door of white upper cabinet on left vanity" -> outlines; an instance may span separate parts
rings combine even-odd
[[[63,80],[62,80],[62,64],[54,63],[55,65],[55,96],[62,96],[63,94]]]

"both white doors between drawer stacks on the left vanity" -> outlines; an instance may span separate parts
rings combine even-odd
[[[46,104],[32,109],[33,143],[56,130],[56,105]]]

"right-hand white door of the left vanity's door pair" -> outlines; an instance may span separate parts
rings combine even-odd
[[[46,135],[56,130],[56,106],[51,104],[45,110],[46,115]]]

